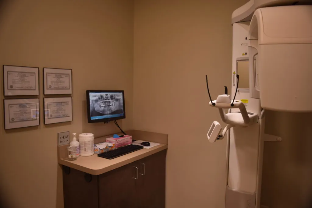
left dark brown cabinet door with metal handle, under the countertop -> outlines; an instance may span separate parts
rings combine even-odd
[[[137,175],[134,163],[99,175],[100,208],[138,208]]]

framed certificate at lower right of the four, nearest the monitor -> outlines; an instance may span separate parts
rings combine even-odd
[[[72,99],[44,98],[44,124],[72,121]]]

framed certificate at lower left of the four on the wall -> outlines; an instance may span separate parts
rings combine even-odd
[[[39,126],[39,98],[4,99],[4,129]]]

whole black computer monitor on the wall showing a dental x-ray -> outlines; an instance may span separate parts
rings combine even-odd
[[[87,90],[88,123],[126,118],[124,90]]]

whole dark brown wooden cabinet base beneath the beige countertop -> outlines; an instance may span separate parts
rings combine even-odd
[[[63,167],[64,207],[164,208],[165,168],[166,150],[98,176]]]

